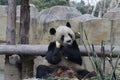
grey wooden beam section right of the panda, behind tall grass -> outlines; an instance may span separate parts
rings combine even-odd
[[[89,46],[86,46],[87,49],[89,49]],[[88,52],[90,54],[90,56],[94,55],[92,51],[87,51],[86,48],[82,45],[82,46],[79,46],[79,49],[81,51],[81,54],[82,56],[88,56]],[[111,46],[110,45],[105,45],[104,46],[104,49],[105,49],[105,56],[110,56],[112,53],[111,53]],[[94,46],[94,51],[95,51],[95,54],[97,54],[97,56],[99,57],[103,57],[103,53],[101,53],[101,46],[100,45],[95,45]],[[118,55],[120,55],[120,46],[114,46],[114,49],[113,49],[113,54],[112,54],[112,57],[117,57]]]

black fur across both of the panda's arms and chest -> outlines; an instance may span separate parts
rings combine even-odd
[[[72,45],[64,45],[56,48],[56,43],[51,42],[46,53],[46,59],[49,63],[57,65],[61,61],[61,57],[67,57],[68,60],[82,65],[80,51],[76,41]]]

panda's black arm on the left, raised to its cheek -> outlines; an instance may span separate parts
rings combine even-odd
[[[51,42],[46,52],[46,59],[50,64],[58,64],[61,61],[60,48],[56,47],[55,42]]]

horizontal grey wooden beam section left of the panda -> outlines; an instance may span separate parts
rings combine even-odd
[[[44,55],[47,45],[0,45],[0,54]]]

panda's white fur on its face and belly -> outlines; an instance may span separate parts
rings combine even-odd
[[[72,35],[72,38],[68,35],[68,33]],[[61,36],[62,35],[64,35],[64,41],[63,42],[61,41]],[[71,42],[68,43],[67,42],[68,40],[71,40]],[[55,41],[60,42],[61,45],[64,45],[64,44],[72,45],[74,40],[75,40],[75,34],[74,34],[74,32],[71,28],[61,25],[56,29]],[[70,67],[74,70],[81,69],[81,65],[71,62],[65,56],[62,56],[62,60],[61,60],[60,63],[57,64],[57,66],[66,66],[66,67]]]

